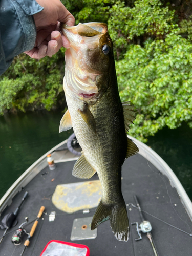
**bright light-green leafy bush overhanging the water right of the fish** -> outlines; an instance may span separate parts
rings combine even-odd
[[[130,133],[137,137],[154,135],[164,126],[192,127],[192,45],[175,34],[165,41],[131,45],[117,62],[122,101],[139,109]],[[144,141],[146,141],[143,138]]]

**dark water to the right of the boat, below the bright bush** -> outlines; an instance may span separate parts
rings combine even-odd
[[[186,123],[178,129],[166,127],[148,138],[147,145],[172,168],[192,200],[192,129]]]

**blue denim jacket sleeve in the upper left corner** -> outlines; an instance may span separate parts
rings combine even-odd
[[[43,9],[35,0],[0,1],[0,75],[16,55],[34,47],[36,28],[33,14]]]

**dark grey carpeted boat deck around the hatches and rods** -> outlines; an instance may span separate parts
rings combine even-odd
[[[59,154],[65,153],[67,150],[61,150]],[[90,249],[91,256],[153,256],[154,252],[150,241],[142,234],[142,240],[135,241],[138,237],[136,226],[132,226],[131,222],[141,223],[139,211],[129,205],[134,201],[134,195],[137,195],[141,209],[154,215],[161,220],[172,224],[188,233],[191,233],[192,223],[188,214],[183,207],[179,195],[175,188],[170,186],[169,180],[162,175],[159,170],[148,162],[144,157],[137,154],[125,160],[122,166],[122,194],[127,204],[127,213],[130,221],[130,239],[128,242],[119,242],[110,227],[110,222],[106,221],[97,228],[97,237],[95,239],[71,241],[71,231],[73,221],[76,218],[92,217],[95,208],[90,209],[88,214],[83,214],[79,210],[73,214],[68,214],[58,210],[52,203],[51,198],[58,184],[67,184],[82,182],[72,176],[72,169],[75,161],[56,163],[55,170],[49,170],[48,166],[41,170],[39,174],[33,178],[24,190],[18,193],[13,203],[4,210],[1,219],[10,211],[14,211],[19,205],[25,191],[29,196],[25,200],[18,214],[18,225],[24,222],[24,218],[29,217],[29,221],[33,220],[42,205],[45,206],[47,215],[42,216],[31,239],[29,248],[26,248],[24,256],[39,256],[46,244],[50,240],[60,240],[65,242],[73,242],[77,244],[87,245]],[[42,175],[46,173],[47,175]],[[54,180],[53,180],[54,179]],[[98,180],[95,174],[91,180]],[[56,211],[56,217],[53,222],[49,222],[49,214]],[[152,224],[152,235],[159,256],[191,256],[192,255],[192,238],[171,226],[147,215],[143,212],[144,218]],[[32,224],[25,228],[29,232]],[[24,249],[24,241],[27,236],[22,237],[22,244],[15,246],[11,243],[11,237],[14,233],[8,234],[0,245],[0,255],[18,256]],[[8,232],[10,232],[8,231]],[[4,230],[0,230],[0,237]]]

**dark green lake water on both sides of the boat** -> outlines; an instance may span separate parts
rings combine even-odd
[[[0,198],[25,170],[72,130],[59,134],[63,113],[27,112],[0,117]],[[183,124],[148,138],[151,146],[172,168],[192,199],[192,130]]]

